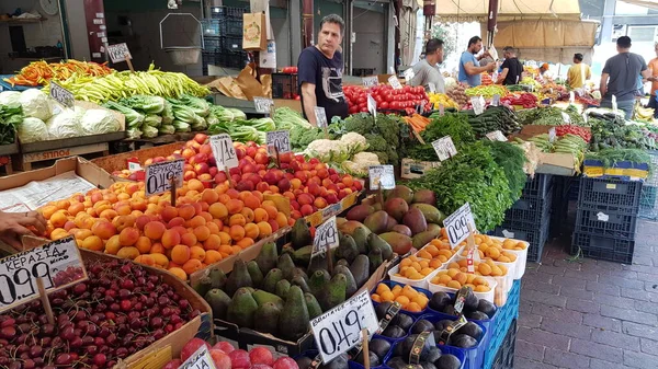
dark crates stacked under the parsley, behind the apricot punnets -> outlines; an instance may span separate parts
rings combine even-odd
[[[553,176],[535,174],[525,183],[521,198],[506,212],[504,222],[496,228],[495,235],[529,242],[527,261],[541,262],[548,240],[552,205]]]

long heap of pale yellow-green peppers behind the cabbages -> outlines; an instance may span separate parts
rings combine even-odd
[[[209,90],[183,73],[163,72],[150,66],[148,71],[122,71],[104,77],[88,77],[73,74],[58,81],[76,96],[76,100],[104,103],[118,101],[136,94],[162,97],[179,97],[186,93],[194,96],[205,96]],[[44,91],[48,93],[46,85]]]

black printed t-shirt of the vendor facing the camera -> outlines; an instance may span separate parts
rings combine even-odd
[[[316,87],[316,102],[318,106],[325,107],[327,119],[340,116],[348,116],[348,102],[342,91],[342,54],[336,51],[333,58],[327,58],[315,46],[305,48],[299,54],[297,62],[297,88],[304,106],[304,95],[302,94],[302,83],[308,82]],[[304,109],[302,109],[304,111]],[[304,113],[306,116],[306,112]]]

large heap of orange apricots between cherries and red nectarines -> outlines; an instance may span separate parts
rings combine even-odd
[[[144,183],[120,182],[38,210],[52,240],[72,234],[83,249],[168,269],[181,279],[235,255],[294,221],[260,192],[191,180],[170,194],[145,198]]]

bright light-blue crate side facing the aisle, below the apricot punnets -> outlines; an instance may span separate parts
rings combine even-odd
[[[491,368],[496,354],[500,349],[504,337],[512,324],[512,321],[519,318],[519,301],[521,298],[521,280],[514,280],[504,305],[498,308],[495,326],[491,330],[489,345],[484,353],[484,367]]]

